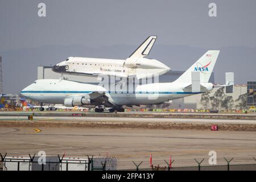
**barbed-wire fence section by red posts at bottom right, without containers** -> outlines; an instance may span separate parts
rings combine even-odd
[[[129,171],[256,171],[255,158],[222,158],[218,165],[208,163],[208,159],[179,159],[179,160],[154,160],[153,163],[145,161],[119,163],[119,170]],[[144,165],[143,165],[144,164]]]

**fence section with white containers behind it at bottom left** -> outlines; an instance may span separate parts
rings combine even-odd
[[[116,170],[113,157],[64,158],[62,156],[6,157],[1,155],[0,171],[97,171]]]

